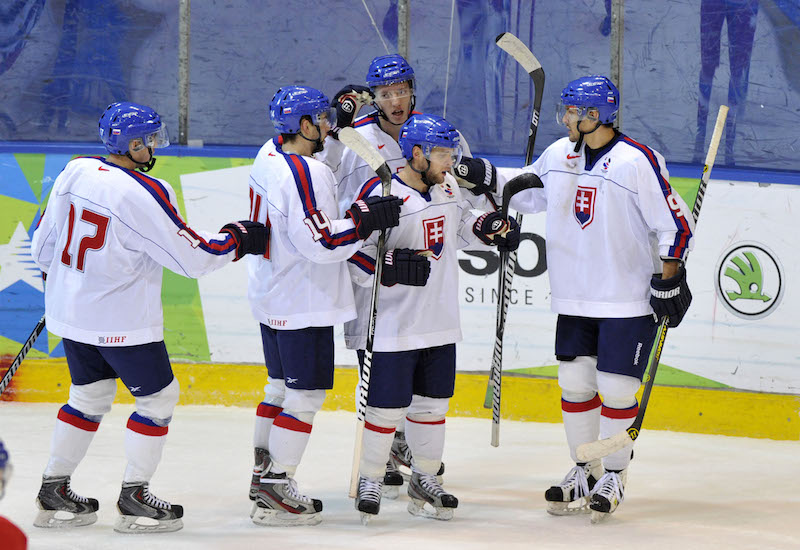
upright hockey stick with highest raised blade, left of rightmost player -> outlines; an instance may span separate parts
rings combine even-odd
[[[536,131],[539,128],[539,113],[542,109],[544,96],[544,69],[536,56],[523,44],[519,38],[505,32],[495,40],[497,46],[513,57],[517,63],[530,75],[536,90],[531,113],[531,127],[528,132],[528,144],[525,147],[525,166],[533,161],[533,146],[536,142]],[[541,181],[539,181],[541,185]],[[506,186],[506,188],[508,185]],[[509,195],[508,200],[511,199]],[[505,189],[503,190],[503,215],[508,214]],[[522,214],[517,213],[517,225],[522,227]],[[508,304],[511,301],[511,283],[514,279],[514,270],[517,267],[517,251],[500,254],[500,271],[498,274],[498,301],[497,301],[497,326],[495,330],[494,354],[492,355],[492,370],[489,375],[489,385],[492,387],[492,446],[500,445],[500,384],[503,369],[503,332],[505,331]]]

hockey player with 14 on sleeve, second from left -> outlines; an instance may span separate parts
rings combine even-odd
[[[251,217],[273,237],[250,263],[269,380],[256,412],[251,516],[259,525],[310,525],[321,521],[322,503],[298,491],[294,473],[333,387],[333,325],[356,316],[345,261],[374,230],[398,224],[402,201],[367,197],[338,219],[333,173],[313,157],[333,123],[322,92],[281,88],[270,119],[281,135],[261,148],[250,173]]]

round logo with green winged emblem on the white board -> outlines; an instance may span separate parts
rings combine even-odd
[[[717,297],[728,311],[742,319],[766,317],[783,298],[783,266],[763,244],[732,245],[722,254],[714,273]]]

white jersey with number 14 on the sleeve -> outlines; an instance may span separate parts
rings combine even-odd
[[[336,183],[322,162],[264,144],[250,172],[250,219],[272,226],[265,257],[249,258],[253,316],[277,330],[327,327],[356,316],[346,260],[361,248],[337,219]]]

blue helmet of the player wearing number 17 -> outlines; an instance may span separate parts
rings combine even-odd
[[[156,148],[169,145],[167,127],[150,107],[118,101],[106,107],[98,123],[100,140],[109,153],[125,155],[128,149]],[[132,144],[132,140],[141,142]]]

